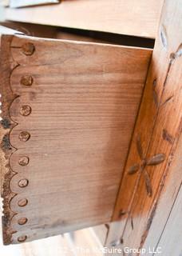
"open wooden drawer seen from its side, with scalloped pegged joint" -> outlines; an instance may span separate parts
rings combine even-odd
[[[5,244],[111,221],[151,54],[2,30]]]

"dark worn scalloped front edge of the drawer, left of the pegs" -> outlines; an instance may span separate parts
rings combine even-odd
[[[10,156],[17,150],[10,144],[10,131],[18,124],[10,118],[9,110],[14,99],[18,95],[14,94],[10,87],[10,75],[12,71],[18,66],[14,61],[10,51],[10,44],[13,35],[1,36],[1,58],[0,58],[0,94],[2,94],[2,120],[0,125],[0,159],[2,162],[1,169],[1,195],[2,195],[2,235],[3,243],[8,245],[12,242],[12,235],[16,233],[10,226],[11,219],[15,213],[10,209],[10,201],[17,194],[10,190],[10,180],[17,173],[10,168]]]

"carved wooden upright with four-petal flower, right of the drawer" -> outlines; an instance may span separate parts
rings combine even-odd
[[[181,24],[181,1],[166,1],[113,214],[130,248],[144,245],[181,133]]]

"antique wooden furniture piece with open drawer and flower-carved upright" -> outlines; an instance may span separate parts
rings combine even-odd
[[[160,13],[161,2],[150,3]],[[117,19],[102,26],[109,2],[95,4],[97,11],[103,6],[95,23],[92,15],[83,23],[81,0],[51,6],[55,17],[63,15],[46,24],[156,38],[153,53],[134,42],[116,46],[59,39],[53,31],[56,39],[41,38],[46,29],[39,37],[1,29],[4,243],[102,224],[93,229],[103,246],[161,246],[164,255],[174,248],[180,255],[174,241],[182,240],[182,2],[165,2],[157,34],[158,18],[150,30],[148,15],[141,30],[145,14],[131,26],[129,11],[125,26]],[[140,1],[141,7],[148,8]],[[73,25],[64,14],[77,8]],[[47,6],[7,8],[6,17],[42,24],[46,12]]]

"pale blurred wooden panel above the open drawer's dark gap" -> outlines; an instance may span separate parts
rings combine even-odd
[[[6,9],[6,19],[156,38],[163,0],[65,0],[55,6]]]

